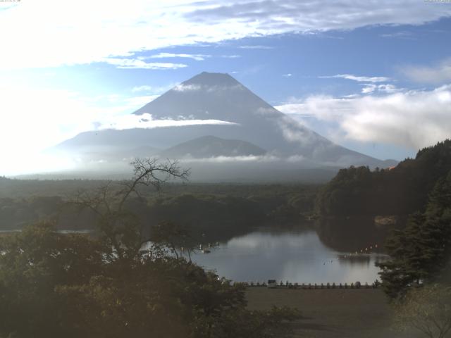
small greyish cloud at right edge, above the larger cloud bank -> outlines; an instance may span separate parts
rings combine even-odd
[[[446,83],[451,81],[451,58],[438,63],[434,67],[407,66],[402,73],[410,80],[420,83]]]

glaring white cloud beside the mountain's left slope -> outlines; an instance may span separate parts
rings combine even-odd
[[[11,84],[0,84],[0,92],[0,175],[66,168],[70,161],[65,158],[39,153],[93,130],[96,121],[105,125],[156,97],[111,94],[86,98],[66,90]]]

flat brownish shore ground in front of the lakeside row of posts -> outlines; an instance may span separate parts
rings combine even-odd
[[[304,319],[293,324],[294,337],[391,338],[421,337],[393,330],[393,311],[381,289],[267,289],[247,288],[248,307],[298,308]]]

